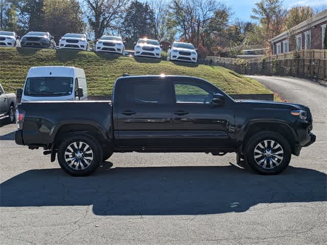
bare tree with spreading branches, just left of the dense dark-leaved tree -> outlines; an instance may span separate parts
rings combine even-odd
[[[99,39],[105,31],[117,30],[129,0],[85,0],[88,23]]]

